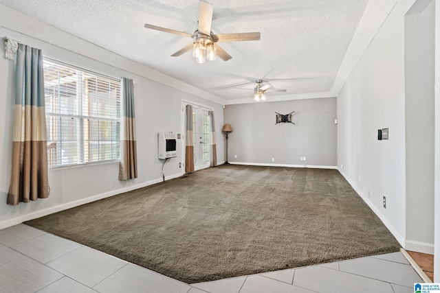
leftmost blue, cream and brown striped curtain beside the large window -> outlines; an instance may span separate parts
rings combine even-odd
[[[19,44],[15,80],[12,172],[7,203],[16,205],[50,193],[43,54]]]

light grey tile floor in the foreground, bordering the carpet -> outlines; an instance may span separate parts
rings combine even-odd
[[[0,230],[0,292],[414,292],[401,253],[186,284],[25,224]]]

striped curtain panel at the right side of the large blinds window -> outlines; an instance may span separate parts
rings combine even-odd
[[[122,78],[119,180],[133,178],[137,178],[135,98],[133,80]]]

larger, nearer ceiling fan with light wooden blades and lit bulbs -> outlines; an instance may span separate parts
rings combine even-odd
[[[259,32],[245,32],[245,33],[235,33],[235,34],[212,34],[211,24],[212,24],[212,12],[214,11],[214,5],[200,1],[199,2],[199,26],[193,34],[188,34],[186,32],[179,32],[177,30],[170,30],[165,27],[158,27],[156,25],[150,25],[146,23],[144,27],[151,30],[158,30],[161,32],[168,32],[170,34],[178,34],[179,36],[186,36],[192,38],[192,43],[183,47],[175,54],[171,55],[174,57],[184,54],[186,51],[192,49],[192,56],[196,58],[197,63],[204,63],[206,59],[215,60],[216,56],[219,56],[224,61],[230,60],[232,56],[226,53],[225,50],[221,49],[216,43],[220,42],[236,42],[239,40],[259,40]]]

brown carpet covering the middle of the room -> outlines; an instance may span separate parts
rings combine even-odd
[[[331,169],[221,165],[25,224],[185,283],[399,250]]]

